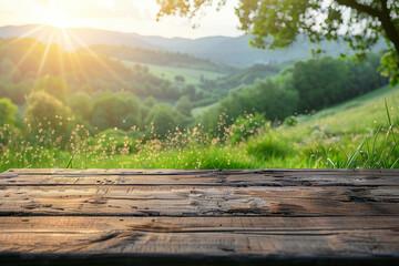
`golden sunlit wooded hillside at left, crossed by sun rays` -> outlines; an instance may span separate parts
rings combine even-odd
[[[176,86],[141,65],[130,68],[103,55],[65,52],[58,44],[45,45],[32,38],[0,39],[1,98],[23,104],[32,90],[29,82],[48,75],[61,78],[71,94],[126,92],[141,98],[177,101],[188,93],[182,90],[184,84]]]

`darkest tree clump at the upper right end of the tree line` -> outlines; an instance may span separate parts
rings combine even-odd
[[[360,64],[329,57],[295,63],[291,86],[299,93],[297,111],[320,110],[383,85],[387,80],[376,72],[376,58],[371,54]]]

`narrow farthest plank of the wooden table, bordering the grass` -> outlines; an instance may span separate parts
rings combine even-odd
[[[40,170],[41,171],[41,170]],[[392,186],[399,184],[399,172],[346,171],[168,171],[166,175],[155,171],[105,170],[64,171],[51,173],[33,170],[16,170],[0,174],[0,185],[211,185],[211,186]],[[174,173],[174,174],[173,174]]]

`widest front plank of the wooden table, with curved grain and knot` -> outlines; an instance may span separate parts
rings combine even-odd
[[[0,253],[399,257],[396,217],[0,217]]]

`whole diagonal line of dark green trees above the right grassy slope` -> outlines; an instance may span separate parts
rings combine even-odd
[[[352,59],[324,57],[299,61],[276,78],[233,92],[209,109],[200,122],[223,134],[243,113],[259,112],[269,121],[283,121],[295,113],[308,113],[350,100],[388,84],[377,72],[381,54],[369,54],[361,63]]]

